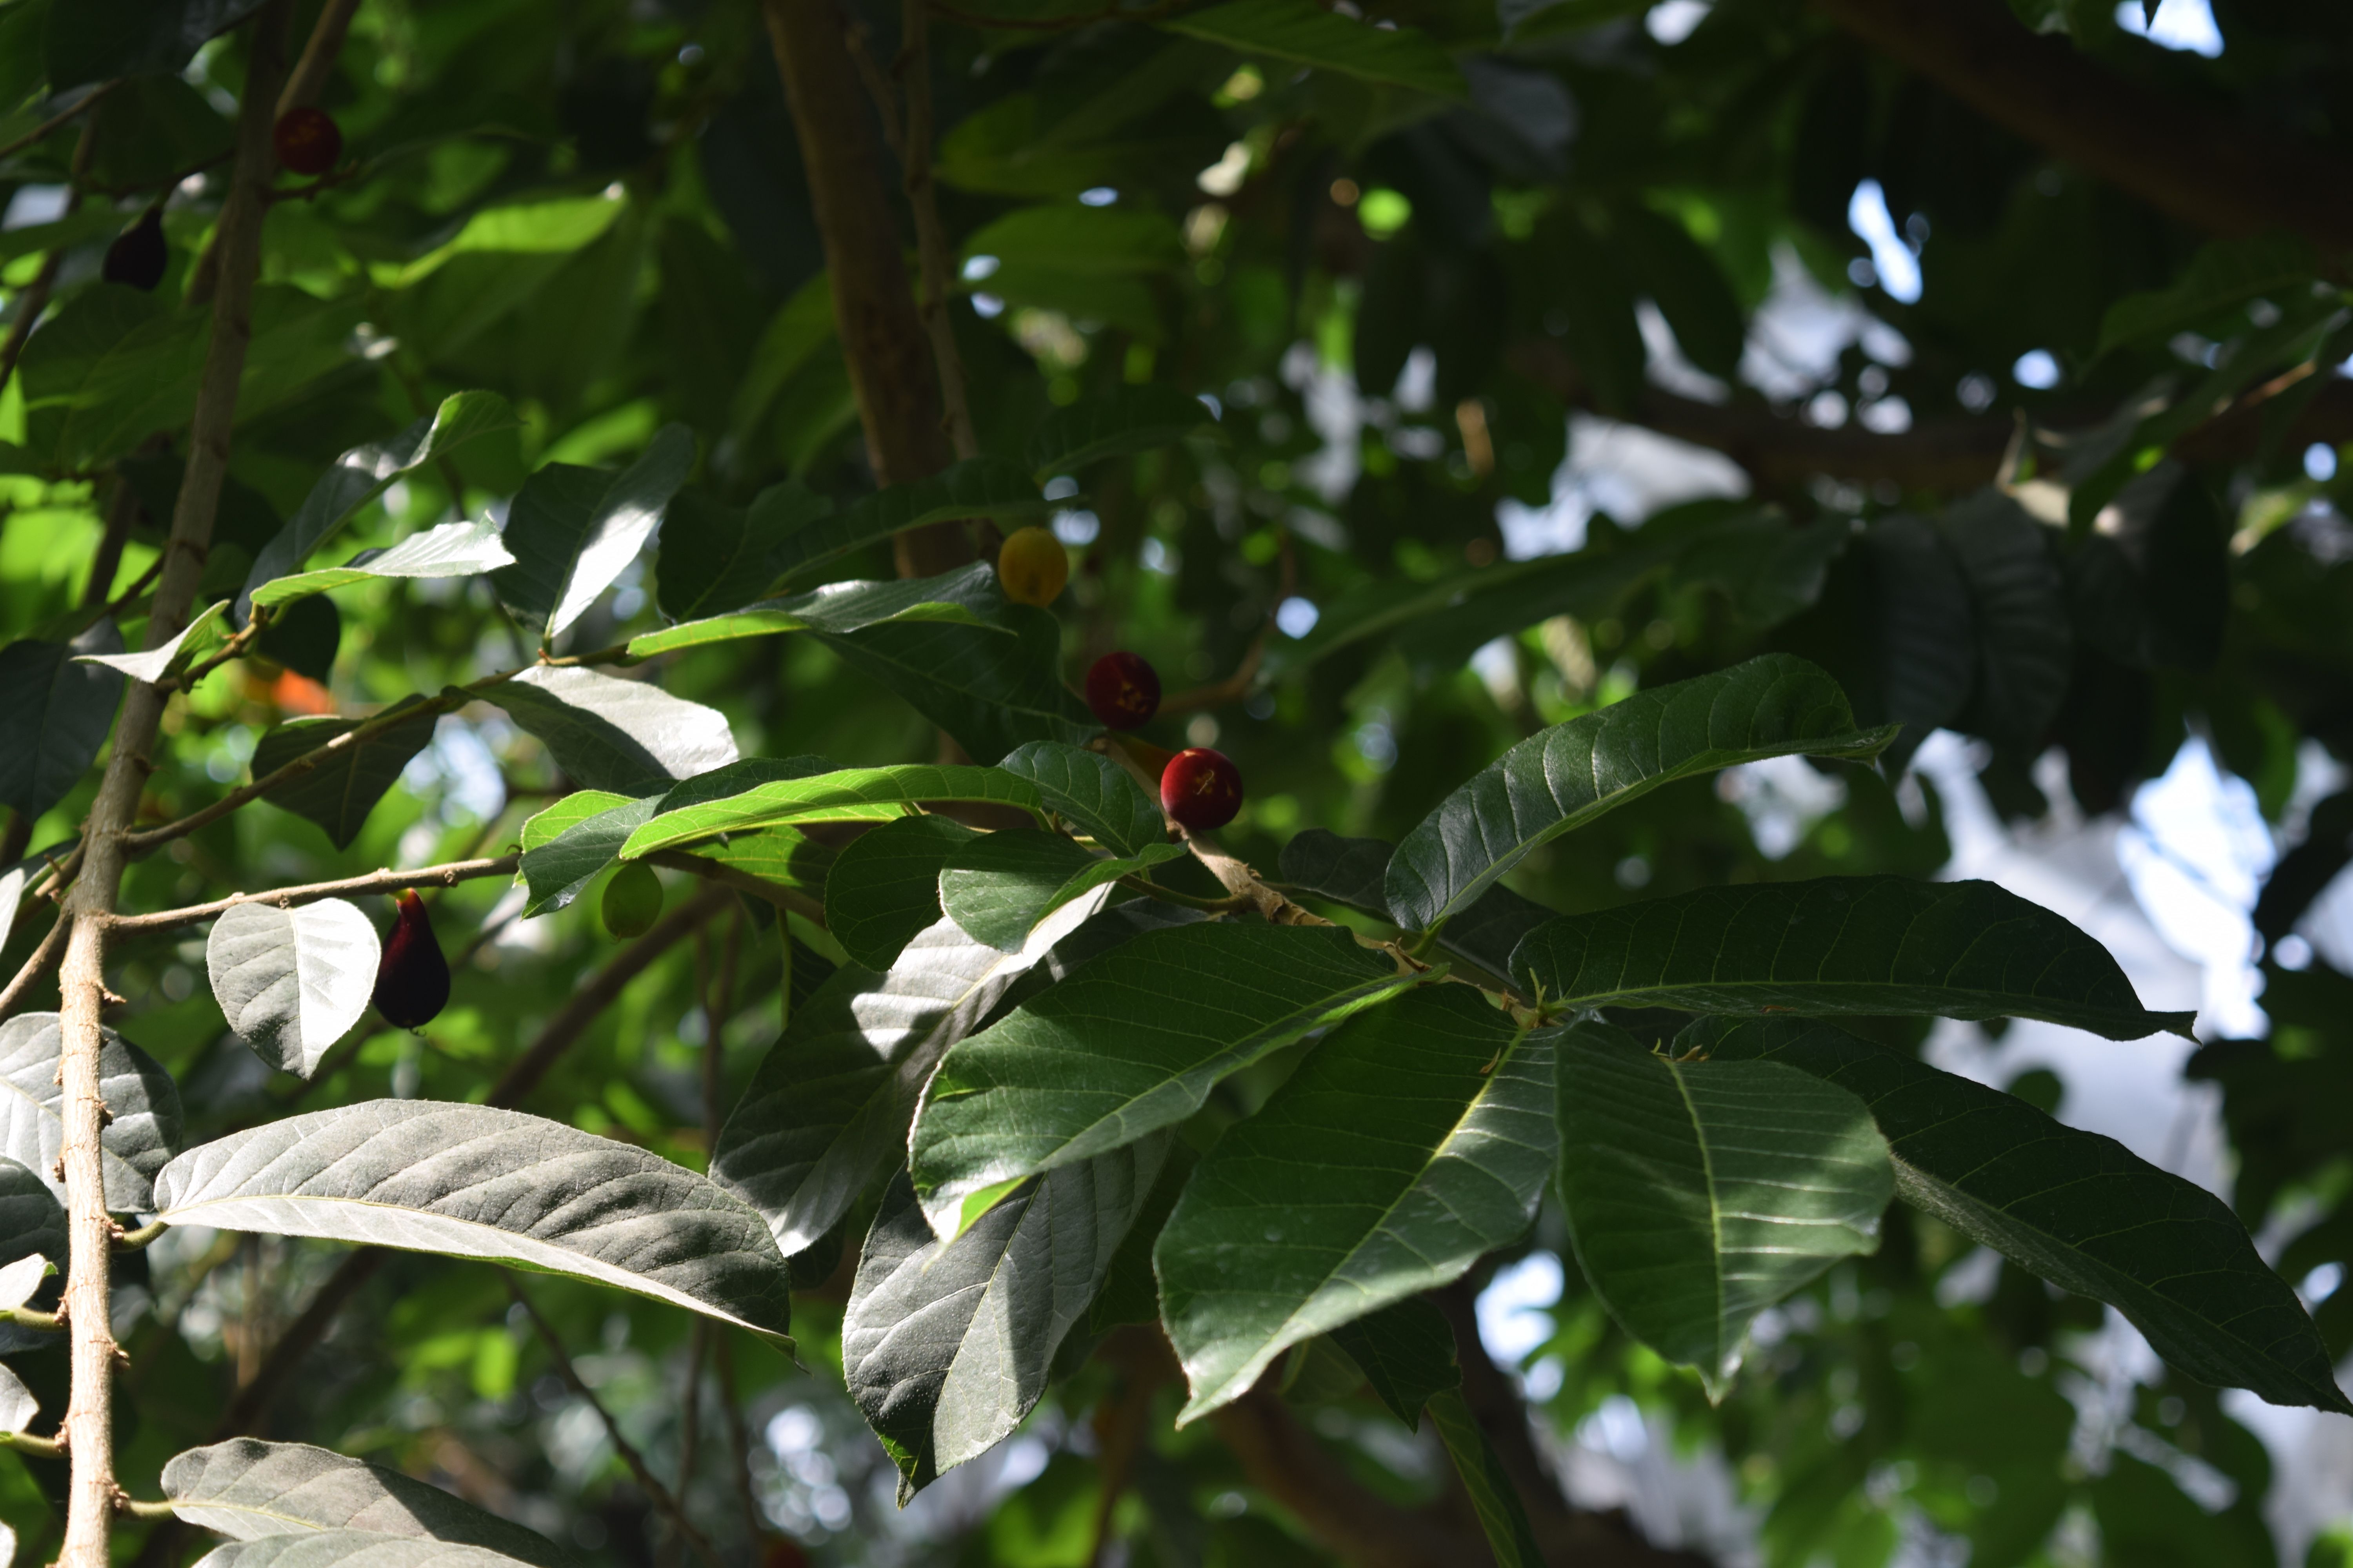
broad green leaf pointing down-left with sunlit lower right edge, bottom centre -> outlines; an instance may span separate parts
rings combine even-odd
[[[1553,1032],[1515,1030],[1468,985],[1334,1030],[1209,1150],[1153,1248],[1193,1389],[1176,1420],[1525,1232],[1553,1145]]]

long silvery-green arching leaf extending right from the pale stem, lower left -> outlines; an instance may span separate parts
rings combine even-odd
[[[165,1166],[155,1213],[569,1274],[791,1347],[784,1258],[741,1199],[513,1110],[362,1100],[271,1121]]]

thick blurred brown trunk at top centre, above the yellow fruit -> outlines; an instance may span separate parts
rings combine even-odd
[[[922,480],[948,465],[948,435],[845,16],[831,0],[765,0],[762,9],[800,134],[809,209],[826,242],[833,324],[849,364],[866,458],[878,484]],[[953,522],[908,529],[892,543],[899,576],[936,576],[972,559],[972,541]]]

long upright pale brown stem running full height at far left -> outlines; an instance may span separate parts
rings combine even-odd
[[[254,277],[261,270],[261,216],[268,181],[278,167],[271,148],[273,106],[285,78],[285,31],[289,0],[271,0],[254,21],[245,68],[245,103],[238,110],[238,167],[221,207],[219,294],[212,306],[212,341],[198,381],[188,430],[188,470],[172,510],[162,576],[148,609],[146,646],[169,642],[186,623],[195,597],[212,520],[228,475],[228,437],[238,416],[238,381],[252,343]],[[106,1004],[106,936],[127,863],[125,835],[139,811],[139,790],[153,764],[148,755],[162,719],[162,693],[134,682],[113,736],[113,755],[99,783],[82,832],[85,863],[66,900],[66,959],[61,973],[61,1060],[68,1258],[64,1314],[73,1326],[73,1394],[66,1403],[64,1439],[73,1450],[66,1500],[66,1540],[59,1568],[106,1568],[115,1521],[113,1373],[115,1338],[108,1328],[108,1274],[115,1225],[106,1213],[106,1178],[99,1131],[106,1098],[99,1088],[99,1013]]]

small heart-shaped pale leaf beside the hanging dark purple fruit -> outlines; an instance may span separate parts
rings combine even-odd
[[[381,957],[376,929],[341,898],[231,905],[205,938],[212,999],[231,1032],[301,1079],[367,1013]]]

